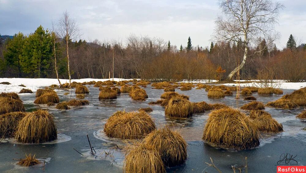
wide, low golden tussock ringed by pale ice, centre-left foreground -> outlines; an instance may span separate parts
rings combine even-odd
[[[144,111],[117,111],[104,125],[104,132],[110,138],[142,139],[155,130],[155,123]]]

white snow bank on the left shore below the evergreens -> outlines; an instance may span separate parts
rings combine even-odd
[[[71,82],[89,82],[89,81],[107,81],[109,79],[72,79]],[[112,80],[112,79],[111,79]],[[131,79],[121,79],[121,78],[114,78],[114,81],[122,81],[122,80],[131,80]],[[68,83],[69,80],[67,79],[60,79],[61,83]],[[10,85],[3,85],[0,84],[0,92],[20,92],[22,88],[30,89],[33,92],[36,92],[37,89],[43,88],[46,86],[50,86],[53,84],[59,85],[57,79],[48,79],[48,78],[0,78],[1,82],[9,82]],[[26,87],[21,87],[18,85],[25,85]]]

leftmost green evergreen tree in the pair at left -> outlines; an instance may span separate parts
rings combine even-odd
[[[3,51],[5,64],[10,70],[18,71],[18,77],[21,76],[21,56],[24,47],[25,36],[21,32],[15,34],[12,40],[9,40],[6,45],[6,50]]]

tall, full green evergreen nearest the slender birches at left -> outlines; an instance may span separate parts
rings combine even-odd
[[[25,73],[33,77],[47,77],[53,64],[52,56],[51,34],[40,25],[25,39],[21,66]]]

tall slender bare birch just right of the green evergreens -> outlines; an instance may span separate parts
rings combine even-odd
[[[70,59],[69,59],[69,40],[75,41],[80,37],[80,30],[76,23],[76,20],[69,16],[67,10],[63,12],[62,17],[57,23],[58,35],[65,39],[66,42],[66,52],[68,60],[68,75],[69,75],[69,86],[71,85],[71,74],[70,74]]]

